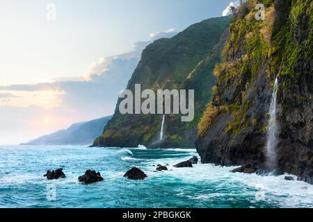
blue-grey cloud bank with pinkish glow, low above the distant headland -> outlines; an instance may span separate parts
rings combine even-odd
[[[85,76],[0,85],[0,144],[26,142],[71,123],[113,114],[118,93],[127,87],[143,49],[158,37],[172,35],[175,31],[169,29],[148,42],[136,42],[127,53],[99,58],[86,67]]]

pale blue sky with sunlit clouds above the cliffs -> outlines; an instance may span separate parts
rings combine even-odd
[[[113,114],[147,44],[227,15],[230,2],[1,1],[0,144]]]

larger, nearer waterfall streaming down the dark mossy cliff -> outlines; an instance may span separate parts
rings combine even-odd
[[[277,146],[277,134],[278,134],[278,123],[276,121],[276,102],[277,102],[277,89],[278,89],[278,78],[275,79],[271,105],[270,105],[270,118],[268,120],[268,132],[267,132],[267,142],[266,142],[266,157],[267,157],[267,165],[268,167],[276,166],[276,154],[275,148]]]

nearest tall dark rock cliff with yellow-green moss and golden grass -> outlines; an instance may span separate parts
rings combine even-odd
[[[255,19],[263,3],[265,21]],[[313,183],[313,4],[311,0],[243,3],[216,65],[214,101],[199,123],[203,163],[266,168],[269,107],[278,78],[275,167]]]

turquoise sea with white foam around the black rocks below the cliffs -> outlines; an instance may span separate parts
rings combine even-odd
[[[230,173],[234,167],[211,164],[172,167],[193,155],[192,149],[0,146],[0,207],[313,207],[313,186],[284,176]],[[170,170],[154,172],[156,164]],[[60,167],[65,179],[43,177]],[[123,178],[131,167],[148,178]],[[100,171],[104,181],[79,183],[86,169]],[[54,185],[56,200],[48,200]]]

